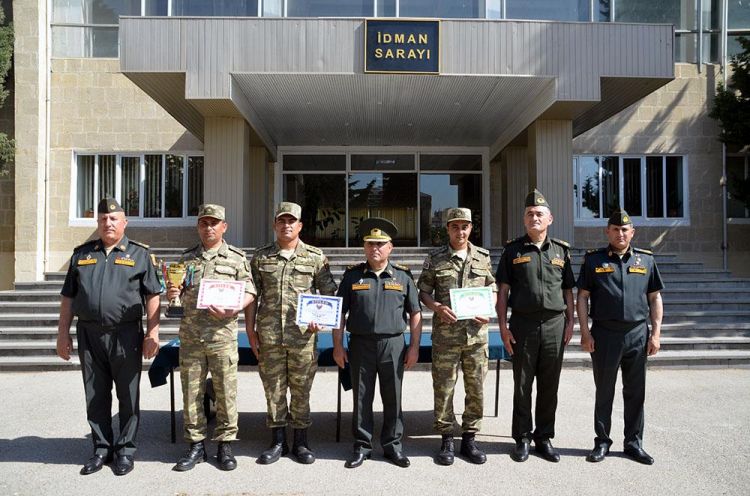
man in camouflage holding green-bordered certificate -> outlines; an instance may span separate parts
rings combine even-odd
[[[496,297],[497,287],[489,251],[469,241],[471,210],[448,209],[446,225],[449,243],[427,256],[417,282],[422,303],[435,312],[432,321],[433,427],[443,437],[437,462],[451,465],[454,459],[453,393],[460,365],[466,390],[461,422],[461,454],[472,463],[481,464],[487,461],[487,457],[477,448],[474,436],[481,427],[484,410],[483,383],[489,357],[489,318],[457,320],[450,306],[450,290],[489,286]]]

